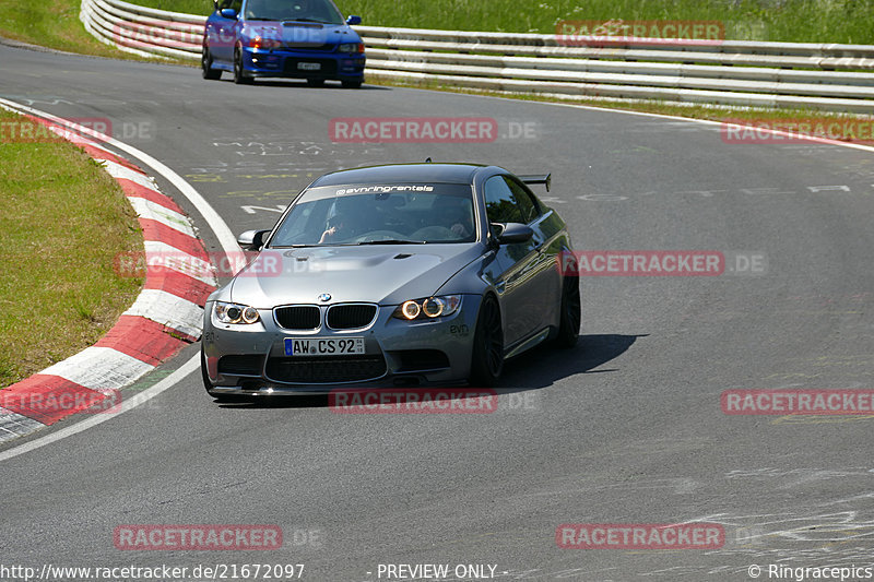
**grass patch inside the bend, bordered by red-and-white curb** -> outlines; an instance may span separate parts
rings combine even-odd
[[[142,287],[113,269],[143,248],[121,188],[79,147],[16,139],[22,119],[0,110],[0,387],[94,344]]]

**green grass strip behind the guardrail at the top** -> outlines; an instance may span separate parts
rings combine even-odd
[[[138,0],[209,14],[212,0]],[[874,44],[874,0],[336,0],[364,24],[553,34],[562,21],[721,21],[734,40]]]

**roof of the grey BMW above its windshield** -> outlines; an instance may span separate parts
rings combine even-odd
[[[475,164],[392,164],[352,168],[326,174],[312,182],[317,186],[342,186],[350,183],[403,183],[440,182],[471,183],[477,169]]]

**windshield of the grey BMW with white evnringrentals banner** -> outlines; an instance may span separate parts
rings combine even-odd
[[[294,202],[270,247],[473,242],[473,209],[466,185],[314,188]]]

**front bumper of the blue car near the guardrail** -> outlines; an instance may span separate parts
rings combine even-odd
[[[243,50],[245,72],[248,76],[256,78],[362,81],[366,60],[364,55],[346,52],[252,48]]]

